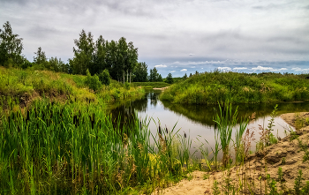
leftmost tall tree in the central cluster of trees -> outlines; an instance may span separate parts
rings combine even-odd
[[[74,40],[76,49],[73,48],[74,57],[70,59],[74,74],[86,74],[87,69],[92,70],[94,56],[94,38],[91,32],[86,34],[83,29],[79,34],[79,40]],[[94,72],[92,72],[94,73]]]

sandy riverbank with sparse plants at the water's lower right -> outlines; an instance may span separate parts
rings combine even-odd
[[[298,130],[290,131],[289,135],[277,144],[248,155],[242,166],[212,172],[194,171],[188,175],[190,179],[184,179],[162,191],[157,189],[153,194],[219,194],[217,192],[229,190],[228,194],[232,194],[232,189],[237,191],[237,194],[245,194],[245,191],[266,194],[265,190],[297,194],[297,187],[304,191],[298,194],[308,194],[309,112],[288,113],[281,117]]]

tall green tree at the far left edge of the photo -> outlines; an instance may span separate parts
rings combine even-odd
[[[19,34],[12,33],[10,22],[5,22],[4,30],[0,29],[0,65],[19,66],[25,61],[25,57],[21,56],[23,39],[18,37]]]

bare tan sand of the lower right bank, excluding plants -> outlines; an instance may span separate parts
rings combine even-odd
[[[281,117],[291,126],[296,123],[295,113],[283,114]],[[309,112],[298,113],[299,117],[308,118]],[[299,169],[303,173],[303,184],[309,180],[309,161],[303,161],[305,152],[299,146],[300,140],[302,146],[305,146],[306,150],[309,149],[309,125],[296,131],[295,135],[298,136],[298,139],[290,140],[291,135],[289,135],[277,144],[268,146],[263,152],[247,156],[245,166],[234,166],[230,171],[194,171],[191,173],[192,179],[190,181],[184,179],[163,190],[157,189],[153,194],[213,194],[215,180],[218,182],[218,189],[222,194],[222,191],[226,189],[223,186],[226,185],[225,181],[229,176],[230,184],[233,184],[239,191],[245,192],[244,194],[250,194],[249,190],[244,191],[244,181],[246,181],[246,188],[248,189],[248,185],[250,185],[251,191],[255,194],[265,194],[267,174],[275,179],[278,191],[289,191],[289,189],[291,191],[294,188]],[[283,169],[283,187],[278,182],[277,172],[279,167]],[[243,189],[240,187],[240,181],[244,184]]]

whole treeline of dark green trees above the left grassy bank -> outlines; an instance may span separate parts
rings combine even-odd
[[[118,41],[106,41],[102,35],[97,41],[91,32],[82,30],[79,39],[75,39],[74,56],[65,64],[61,58],[47,58],[45,52],[39,47],[34,52],[34,62],[31,63],[22,55],[23,43],[19,34],[13,34],[11,24],[4,23],[0,29],[0,65],[4,67],[18,67],[22,69],[62,71],[72,74],[99,75],[108,70],[112,79],[122,82],[156,81],[148,77],[147,64],[138,62],[138,49],[133,42],[127,42],[124,37]],[[159,81],[159,80],[158,80]]]

